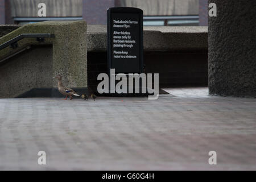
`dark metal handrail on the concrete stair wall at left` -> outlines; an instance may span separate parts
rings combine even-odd
[[[16,42],[24,38],[37,38],[38,41],[42,41],[43,38],[54,38],[54,37],[55,37],[54,34],[20,34],[19,36],[16,36],[15,38],[1,44],[0,50],[5,47],[16,44]]]

